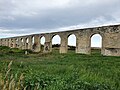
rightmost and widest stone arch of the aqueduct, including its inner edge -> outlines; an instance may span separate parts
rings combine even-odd
[[[102,53],[103,35],[101,33],[93,33],[90,36],[90,51],[98,50]]]

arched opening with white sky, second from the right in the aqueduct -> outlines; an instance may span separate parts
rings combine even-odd
[[[68,36],[68,51],[76,50],[76,36],[75,34],[70,34]]]

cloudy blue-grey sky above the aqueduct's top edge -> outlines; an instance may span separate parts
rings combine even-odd
[[[0,38],[120,23],[120,0],[0,0]]]

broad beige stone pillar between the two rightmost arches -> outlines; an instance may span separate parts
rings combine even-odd
[[[90,54],[90,39],[87,33],[80,33],[79,37],[77,37],[76,42],[76,53]]]

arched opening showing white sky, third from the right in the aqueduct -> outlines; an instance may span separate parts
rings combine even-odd
[[[59,35],[54,35],[52,37],[52,50],[59,51],[61,44],[61,37]]]

